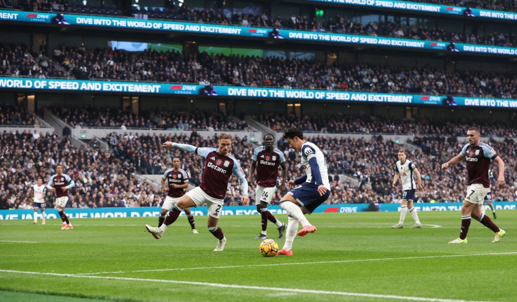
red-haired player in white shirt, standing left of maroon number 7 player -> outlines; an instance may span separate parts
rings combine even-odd
[[[413,176],[416,175],[416,184]],[[395,176],[393,177],[393,188],[397,186],[397,181],[402,181],[402,201],[400,203],[400,219],[399,223],[392,226],[392,229],[402,229],[404,227],[404,219],[406,218],[406,213],[409,211],[413,219],[415,219],[415,225],[411,227],[412,229],[421,228],[422,224],[420,223],[420,219],[418,219],[417,209],[413,206],[413,200],[415,199],[416,190],[423,190],[422,187],[422,177],[420,176],[420,171],[418,171],[417,167],[412,161],[407,160],[406,151],[399,150],[399,161],[397,162],[397,167],[395,170]]]

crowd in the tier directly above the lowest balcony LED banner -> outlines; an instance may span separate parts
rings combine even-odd
[[[489,71],[67,46],[52,56],[0,43],[0,75],[517,98],[515,74]]]

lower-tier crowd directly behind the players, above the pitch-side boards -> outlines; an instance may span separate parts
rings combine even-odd
[[[344,119],[346,120],[346,119]],[[69,121],[73,122],[73,121]],[[293,121],[294,122],[294,121]],[[348,122],[353,123],[354,120]],[[79,121],[76,121],[79,124]],[[399,190],[392,190],[394,163],[400,146],[391,140],[385,140],[386,121],[370,121],[379,134],[372,139],[331,138],[325,133],[307,133],[308,140],[314,142],[326,153],[329,174],[332,175],[332,194],[327,203],[383,203],[400,198]],[[296,123],[294,123],[296,124]],[[301,124],[301,123],[300,123]],[[392,121],[397,125],[398,122]],[[400,125],[399,125],[400,126]],[[464,163],[456,165],[443,173],[440,165],[451,156],[459,153],[465,141],[458,141],[458,135],[464,135],[467,125],[450,122],[447,127],[440,124],[412,123],[415,131],[410,143],[420,147],[408,154],[408,159],[415,162],[422,173],[425,192],[418,194],[421,202],[461,201],[466,189],[466,172]],[[441,129],[441,131],[440,131]],[[494,129],[489,133],[508,133],[508,129]],[[131,130],[131,129],[129,129]],[[131,131],[129,131],[131,133]],[[364,132],[366,133],[366,132]],[[506,182],[503,188],[493,188],[496,200],[516,200],[517,182],[515,171],[514,140],[508,137],[496,141],[493,135],[483,133],[483,141],[489,142],[506,162]],[[512,135],[513,136],[513,135]],[[54,173],[56,164],[63,164],[65,173],[69,174],[76,186],[71,190],[69,206],[73,208],[98,208],[103,206],[158,206],[164,194],[153,185],[139,180],[138,174],[162,174],[171,167],[172,157],[178,156],[181,168],[188,173],[193,185],[199,185],[202,177],[203,160],[200,156],[173,150],[164,150],[164,141],[177,141],[200,147],[217,146],[217,137],[201,137],[196,132],[184,135],[172,132],[169,135],[153,135],[135,130],[134,134],[119,135],[112,133],[105,140],[110,149],[99,148],[98,139],[89,142],[88,148],[74,148],[67,136],[56,133],[31,133],[26,130],[4,132],[0,146],[0,205],[9,208],[28,208],[32,195],[27,187],[31,186],[37,176],[45,180]],[[247,173],[251,164],[251,154],[256,146],[247,137],[234,137],[232,153]],[[285,154],[288,166],[288,179],[296,179],[304,173],[297,155],[284,141],[278,142],[278,148]],[[415,148],[412,148],[415,149]],[[494,174],[497,175],[497,167]],[[339,175],[351,178],[339,181]],[[354,181],[354,179],[356,181]],[[231,179],[225,204],[239,204],[242,192],[239,192],[238,180]],[[250,185],[249,197],[254,201],[255,186]],[[51,193],[47,201],[53,206]],[[277,194],[273,203],[280,200]]]

